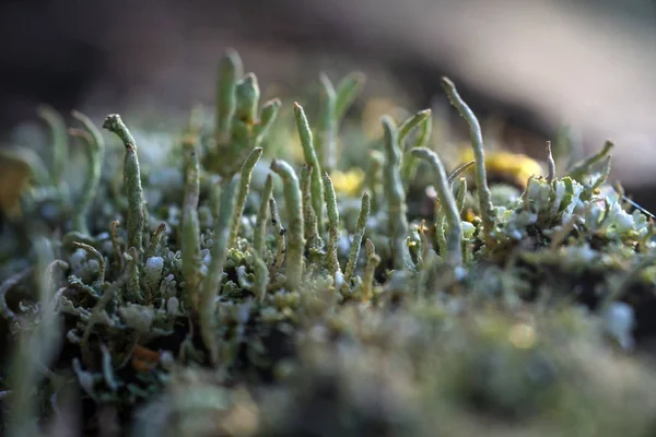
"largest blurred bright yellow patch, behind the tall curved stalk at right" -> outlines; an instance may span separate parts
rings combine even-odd
[[[465,147],[459,153],[459,160],[467,163],[473,160],[471,147]],[[531,176],[543,175],[544,169],[531,157],[508,151],[487,151],[485,169],[489,180],[504,180],[524,189]]]

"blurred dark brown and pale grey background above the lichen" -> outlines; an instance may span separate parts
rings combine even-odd
[[[9,0],[0,141],[40,103],[95,117],[209,105],[227,47],[282,95],[319,71],[358,69],[365,97],[418,110],[443,98],[440,76],[449,75],[513,150],[541,156],[563,125],[587,152],[612,139],[613,179],[656,209],[649,0]]]

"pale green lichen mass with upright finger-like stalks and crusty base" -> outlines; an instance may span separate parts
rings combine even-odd
[[[156,162],[129,120],[74,113],[78,186],[44,109],[51,165],[2,156],[32,182],[1,199],[3,430],[653,435],[656,373],[631,355],[656,331],[655,229],[607,182],[612,143],[566,168],[548,143],[546,175],[494,184],[442,84],[472,162],[441,156],[424,109],[343,163],[364,76],[323,75],[317,114],[286,119],[234,51],[213,122],[195,111]]]

